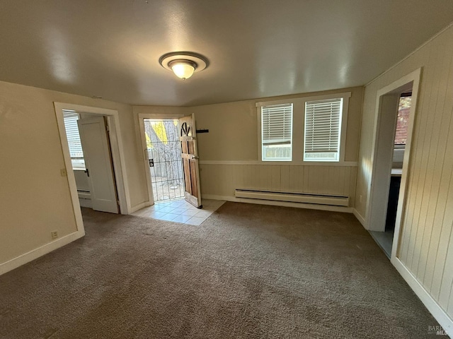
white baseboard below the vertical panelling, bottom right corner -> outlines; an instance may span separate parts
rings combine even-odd
[[[404,266],[401,260],[396,257],[392,257],[391,263],[393,263],[396,270],[398,270],[398,273],[401,274],[404,280],[406,280],[406,283],[408,283],[408,285],[412,288],[415,295],[417,295],[421,302],[423,302],[425,307],[428,311],[430,311],[432,316],[434,316],[440,326],[444,328],[444,331],[448,333],[450,338],[453,338],[453,319],[451,319],[442,307],[437,304],[435,299],[432,299],[428,291],[425,290],[425,287],[418,282],[417,278],[415,278],[411,271]],[[435,324],[432,325],[434,326]],[[426,331],[428,333],[428,328]]]

